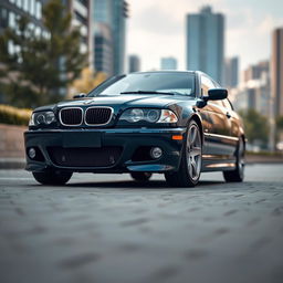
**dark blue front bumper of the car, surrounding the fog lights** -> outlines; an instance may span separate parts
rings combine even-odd
[[[41,160],[31,159],[28,154],[29,171],[43,171],[50,168],[77,172],[129,172],[176,171],[179,168],[182,140],[174,140],[172,135],[186,135],[186,128],[115,128],[115,129],[49,129],[24,133],[25,150],[35,147],[42,155]],[[86,138],[87,137],[87,138]],[[140,147],[160,147],[163,156],[154,160],[133,160]],[[107,147],[119,147],[122,153],[109,166],[65,166],[56,164],[49,148],[60,147],[87,150],[99,150]]]

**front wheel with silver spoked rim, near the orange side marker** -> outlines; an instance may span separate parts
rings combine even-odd
[[[191,120],[188,126],[181,163],[177,172],[166,172],[165,179],[171,187],[195,187],[201,171],[202,142],[198,124]]]

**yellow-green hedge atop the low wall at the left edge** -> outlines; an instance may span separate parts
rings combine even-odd
[[[28,126],[32,111],[0,105],[0,124]]]

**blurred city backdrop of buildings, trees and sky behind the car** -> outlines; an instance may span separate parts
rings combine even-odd
[[[32,108],[150,70],[208,73],[229,88],[248,149],[282,151],[282,11],[281,0],[0,0],[0,157],[22,150],[7,125],[23,132]]]

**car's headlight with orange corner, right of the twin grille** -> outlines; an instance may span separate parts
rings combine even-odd
[[[120,120],[127,120],[129,123],[137,123],[145,120],[148,123],[177,123],[178,118],[176,114],[169,109],[147,109],[147,108],[132,108],[126,109]]]

